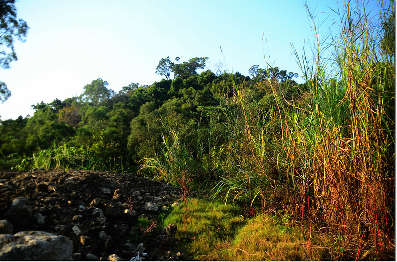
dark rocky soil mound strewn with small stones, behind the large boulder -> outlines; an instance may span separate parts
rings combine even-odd
[[[73,242],[74,260],[183,260],[173,249],[177,229],[155,227],[180,198],[165,183],[112,172],[0,171],[0,196],[0,220],[12,224],[12,234],[63,235]],[[26,198],[18,200],[26,208],[13,213],[18,198]],[[148,223],[139,224],[139,217]]]

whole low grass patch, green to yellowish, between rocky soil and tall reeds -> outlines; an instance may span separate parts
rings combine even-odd
[[[175,251],[184,253],[187,260],[323,260],[329,256],[328,248],[320,248],[324,242],[310,233],[295,227],[285,230],[266,215],[245,219],[235,205],[188,198],[164,217],[163,226],[169,224],[177,226]]]

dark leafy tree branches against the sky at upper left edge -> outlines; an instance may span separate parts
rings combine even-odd
[[[10,68],[10,63],[18,58],[14,49],[14,38],[24,42],[28,32],[27,23],[16,16],[16,0],[0,0],[0,67]],[[11,96],[7,85],[0,81],[0,101]]]

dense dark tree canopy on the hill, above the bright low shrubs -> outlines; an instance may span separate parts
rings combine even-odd
[[[198,74],[197,69],[203,69],[207,59],[194,57],[180,62],[177,57],[174,64],[169,57],[163,58],[156,68],[166,78],[160,82],[149,86],[131,83],[114,92],[107,88],[107,81],[98,78],[84,86],[78,97],[40,102],[32,105],[35,113],[31,117],[1,121],[0,168],[33,168],[33,160],[29,164],[25,161],[23,167],[14,163],[64,146],[89,152],[100,159],[101,168],[114,168],[111,165],[118,159],[118,166],[133,169],[143,157],[159,152],[165,132],[159,119],[167,119],[180,129],[181,139],[193,146],[207,140],[196,134],[199,129],[208,129],[208,109],[203,108],[220,107],[223,99],[232,99],[235,85],[246,87],[250,103],[269,99],[266,79],[280,82],[283,95],[289,99],[307,90],[305,84],[293,80],[297,74],[287,74],[278,67],[265,70],[255,65],[250,69],[251,77],[239,72],[215,75],[210,70]],[[170,79],[170,72],[174,79]]]

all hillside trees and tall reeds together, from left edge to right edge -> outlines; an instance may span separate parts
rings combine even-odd
[[[204,71],[208,57],[162,58],[160,82],[114,92],[98,78],[78,97],[1,121],[0,169],[137,171],[244,217],[269,215],[307,243],[327,235],[332,259],[392,259],[394,3],[377,15],[354,6],[332,10],[337,35],[322,39],[314,23],[310,54],[295,51],[303,84],[275,66],[244,76]]]

